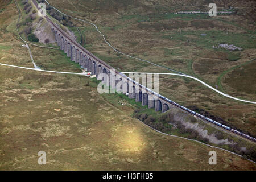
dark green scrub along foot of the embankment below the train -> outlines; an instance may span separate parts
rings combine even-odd
[[[201,114],[203,114],[202,111],[201,111]],[[208,138],[203,137],[196,129],[186,127],[180,121],[176,121],[174,119],[174,116],[171,113],[148,115],[147,113],[144,113],[144,109],[135,109],[133,113],[133,117],[139,119],[140,121],[144,122],[146,125],[158,131],[161,131],[163,133],[166,133],[166,134],[175,133],[182,137],[186,137],[189,139],[196,139],[200,142],[210,144],[210,141]],[[208,115],[208,117],[210,117],[210,115]],[[189,122],[192,122],[192,123],[195,123],[196,121],[197,121],[196,118],[191,118],[189,120]],[[221,130],[214,131],[213,134],[218,140],[226,139],[226,136]],[[225,145],[220,144],[220,146],[232,152],[235,152],[236,154],[242,155],[247,159],[256,161],[256,147],[252,145],[249,147],[244,147],[245,143],[242,142],[241,140],[240,142],[234,142],[230,138],[228,138],[228,140],[230,142],[233,142],[233,144],[225,144]]]

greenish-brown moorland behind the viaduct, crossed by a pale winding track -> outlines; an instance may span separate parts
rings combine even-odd
[[[49,2],[64,13],[96,23],[108,42],[119,51],[195,76],[234,97],[256,99],[255,13],[250,5],[253,1],[217,4],[217,10],[236,7],[237,14],[218,14],[213,18],[207,14],[168,13],[208,11],[205,1],[129,1],[129,5],[126,1]],[[201,6],[196,6],[196,2]],[[244,10],[251,13],[244,15]],[[168,72],[119,55],[94,27],[72,21],[82,31],[82,45],[119,71]],[[75,28],[72,30],[76,32]],[[80,38],[77,32],[75,34]],[[241,47],[242,51],[212,47],[221,43]],[[256,135],[256,106],[253,104],[225,98],[196,81],[181,77],[160,76],[159,90],[171,100],[207,111],[226,125]]]

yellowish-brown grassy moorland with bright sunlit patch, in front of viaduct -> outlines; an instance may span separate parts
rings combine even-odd
[[[0,62],[32,67],[17,36],[14,3],[0,13]],[[40,67],[80,72],[61,51],[31,47]],[[132,100],[97,92],[82,76],[0,67],[0,169],[190,169],[255,170],[255,165],[212,148],[164,136],[131,118]],[[122,104],[125,103],[125,105]],[[97,109],[95,109],[97,108]],[[47,165],[38,165],[38,151]]]

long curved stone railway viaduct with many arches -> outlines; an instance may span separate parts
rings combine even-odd
[[[35,0],[32,0],[32,2],[34,2],[35,6],[39,10],[38,3]],[[115,88],[115,85],[121,85],[119,89],[117,89],[117,92],[122,92],[123,94],[129,93],[129,98],[134,98],[135,101],[141,102],[143,106],[147,105],[148,108],[155,108],[155,111],[164,112],[172,107],[176,107],[163,98],[152,94],[152,92],[149,92],[144,86],[134,84],[133,81],[129,80],[127,76],[120,72],[116,70],[114,72],[111,71],[114,69],[113,67],[94,56],[75,40],[72,40],[72,38],[59,26],[53,23],[48,16],[45,16],[44,18],[51,25],[51,29],[55,35],[55,40],[57,45],[60,46],[60,49],[63,50],[64,53],[67,53],[67,56],[69,56],[72,61],[80,64],[83,68],[87,68],[87,71],[91,72],[92,75],[96,75],[97,78],[100,73],[108,74],[109,78],[106,80],[109,81],[105,80],[104,82],[107,86],[110,86],[110,88],[113,89]],[[114,79],[110,79],[110,77]],[[104,80],[104,78],[102,78],[102,80]],[[110,82],[111,80],[115,80],[114,83]]]

